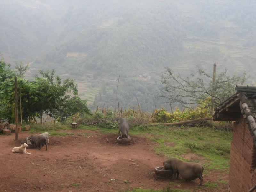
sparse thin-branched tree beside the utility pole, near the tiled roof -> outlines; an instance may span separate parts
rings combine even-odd
[[[207,103],[216,107],[223,100],[235,92],[236,84],[243,84],[246,74],[243,76],[228,76],[227,69],[220,72],[215,83],[212,76],[208,75],[202,68],[198,67],[196,76],[191,74],[183,77],[175,75],[173,70],[165,67],[167,72],[162,76],[162,97],[167,98],[170,103],[181,103],[183,105]]]

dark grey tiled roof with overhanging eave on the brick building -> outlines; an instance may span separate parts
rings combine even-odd
[[[236,85],[236,93],[220,103],[213,120],[237,121],[243,115],[256,146],[256,86]]]

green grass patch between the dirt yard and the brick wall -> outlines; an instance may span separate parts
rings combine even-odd
[[[207,169],[229,169],[232,132],[214,130],[210,127],[177,129],[158,126],[150,128],[142,135],[159,143],[159,147],[155,148],[156,153],[188,161],[181,155],[192,152],[205,161],[205,166],[210,165]],[[174,142],[175,145],[168,146],[166,142]]]

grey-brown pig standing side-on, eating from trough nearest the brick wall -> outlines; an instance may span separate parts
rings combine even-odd
[[[164,161],[164,170],[173,170],[172,177],[180,176],[185,180],[195,180],[196,178],[200,179],[200,184],[203,184],[203,165],[199,163],[185,162],[178,158],[172,158]]]

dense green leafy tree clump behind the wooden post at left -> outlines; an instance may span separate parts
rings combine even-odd
[[[23,78],[28,66],[16,65],[12,70],[10,65],[0,61],[0,119],[14,121],[14,76],[18,75],[21,113],[25,121],[34,120],[43,114],[61,119],[77,112],[90,113],[86,100],[81,100],[77,94],[74,80],[65,79],[63,82],[52,71],[39,71],[41,77],[36,76],[29,81]]]

